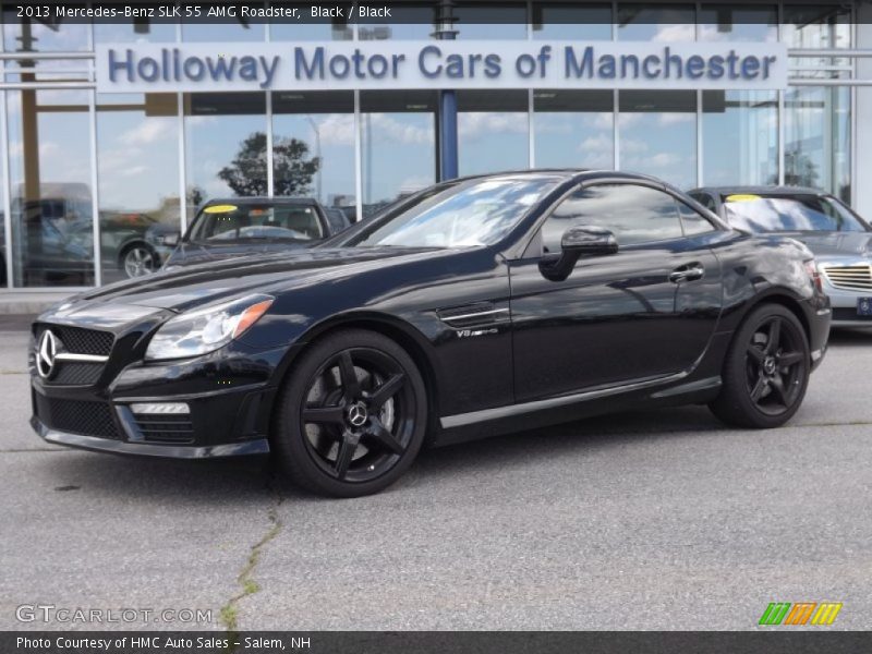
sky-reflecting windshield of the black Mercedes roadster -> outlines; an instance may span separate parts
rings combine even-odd
[[[349,243],[358,246],[493,245],[560,181],[558,177],[473,179],[424,193]]]

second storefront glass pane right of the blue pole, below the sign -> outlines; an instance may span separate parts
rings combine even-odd
[[[536,90],[533,107],[537,168],[615,167],[610,90]]]

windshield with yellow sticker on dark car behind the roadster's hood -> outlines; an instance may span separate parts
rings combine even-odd
[[[214,204],[199,211],[191,231],[198,243],[313,241],[324,237],[315,207]]]

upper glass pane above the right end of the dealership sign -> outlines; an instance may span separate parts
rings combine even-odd
[[[699,40],[775,43],[778,40],[776,4],[702,4]]]

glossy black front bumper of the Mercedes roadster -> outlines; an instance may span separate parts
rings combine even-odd
[[[87,385],[33,375],[31,424],[48,443],[105,452],[182,459],[267,453],[272,380],[284,352],[234,343],[232,351],[166,364],[116,370],[110,360]],[[167,403],[187,410],[143,408]]]

